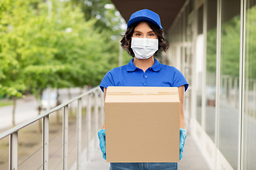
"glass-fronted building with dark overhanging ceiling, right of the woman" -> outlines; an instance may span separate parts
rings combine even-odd
[[[126,21],[142,8],[164,16],[170,47],[161,62],[190,84],[188,130],[210,168],[256,169],[256,0],[112,2]]]

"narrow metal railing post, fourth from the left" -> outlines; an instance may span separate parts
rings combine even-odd
[[[80,170],[81,162],[81,141],[82,141],[82,100],[78,99],[78,113],[77,113],[77,170]]]

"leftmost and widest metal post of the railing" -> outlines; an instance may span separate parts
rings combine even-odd
[[[18,169],[18,132],[14,132],[9,138],[9,169]]]

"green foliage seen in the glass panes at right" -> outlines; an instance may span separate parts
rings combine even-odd
[[[246,37],[245,37],[245,77],[256,79],[256,7],[246,11]],[[222,23],[221,28],[221,74],[239,77],[240,70],[240,16],[235,16]],[[207,33],[206,69],[216,72],[216,28]],[[250,86],[250,89],[252,87]]]

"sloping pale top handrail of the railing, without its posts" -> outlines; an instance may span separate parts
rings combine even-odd
[[[84,94],[81,94],[80,96],[77,96],[75,98],[70,99],[66,103],[60,104],[59,106],[56,106],[55,108],[50,109],[50,111],[48,111],[46,113],[42,113],[41,115],[37,115],[35,118],[31,118],[30,120],[27,120],[26,122],[21,123],[20,125],[16,125],[14,128],[11,128],[9,130],[6,130],[5,132],[2,132],[0,134],[0,140],[3,139],[4,137],[8,136],[8,135],[11,135],[14,132],[17,132],[18,130],[26,127],[27,125],[30,125],[30,124],[36,122],[37,120],[40,120],[41,118],[45,117],[46,115],[50,115],[50,113],[58,111],[60,108],[63,108],[64,106],[67,106],[69,103],[72,103],[73,101],[76,101],[79,98],[87,96],[88,94],[92,93],[93,91],[95,91],[95,89],[98,89],[98,88],[99,88],[99,86],[97,86],[93,89],[90,89],[89,91],[85,92]]]

